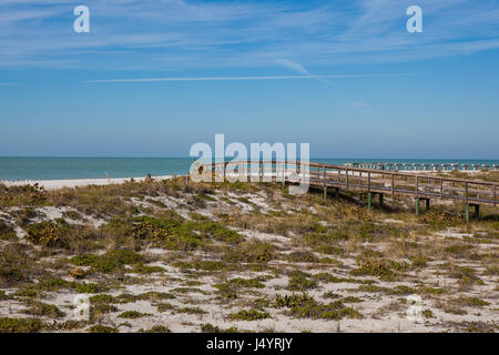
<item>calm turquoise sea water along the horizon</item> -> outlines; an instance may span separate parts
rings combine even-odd
[[[499,160],[415,160],[415,159],[312,159],[314,162],[458,163],[499,164]],[[0,158],[0,180],[64,180],[98,178],[140,178],[189,172],[189,158]]]

